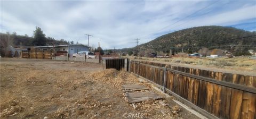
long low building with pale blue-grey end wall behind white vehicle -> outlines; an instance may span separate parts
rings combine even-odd
[[[50,51],[53,49],[55,52],[57,51],[66,51],[68,52],[69,56],[72,57],[73,54],[78,53],[80,51],[89,51],[89,46],[84,44],[71,44],[71,45],[55,45],[55,46],[35,46],[35,50],[46,50]]]

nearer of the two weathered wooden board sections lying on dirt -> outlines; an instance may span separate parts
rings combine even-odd
[[[129,103],[138,103],[140,101],[162,98],[154,92],[130,92],[126,93],[125,96],[127,97]]]

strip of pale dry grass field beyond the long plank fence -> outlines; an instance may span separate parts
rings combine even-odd
[[[133,59],[133,57],[129,57]],[[139,57],[140,60],[170,62],[179,64],[202,65],[207,67],[216,67],[219,69],[230,69],[237,71],[256,71],[256,60],[249,57],[234,58],[189,58],[189,57],[172,57],[172,58],[149,58]]]

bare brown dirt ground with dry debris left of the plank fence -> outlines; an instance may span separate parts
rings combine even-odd
[[[198,118],[173,97],[163,99],[169,106],[149,100],[134,109],[122,84],[151,88],[99,63],[1,58],[1,118]]]

